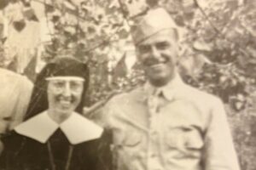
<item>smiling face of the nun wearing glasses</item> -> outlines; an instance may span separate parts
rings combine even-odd
[[[49,109],[71,114],[79,105],[84,81],[79,77],[52,77],[48,80]]]

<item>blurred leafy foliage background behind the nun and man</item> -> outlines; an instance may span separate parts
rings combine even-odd
[[[180,73],[223,99],[242,170],[256,162],[256,1],[0,0],[0,65],[32,82],[56,54],[90,65],[87,103],[144,82],[130,27],[149,8],[180,26]]]

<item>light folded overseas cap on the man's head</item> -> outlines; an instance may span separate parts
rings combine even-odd
[[[135,44],[138,44],[157,32],[167,29],[176,29],[178,31],[178,26],[164,8],[154,8],[150,9],[131,28],[131,35]]]

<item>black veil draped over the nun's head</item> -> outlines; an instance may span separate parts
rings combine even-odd
[[[75,110],[78,113],[82,113],[85,103],[85,93],[87,91],[90,78],[88,66],[80,62],[78,59],[71,57],[59,57],[53,62],[45,65],[44,69],[38,74],[32,90],[32,97],[26,111],[25,120],[48,109],[47,81],[45,78],[55,76],[75,76],[84,78],[84,91],[81,101]]]

